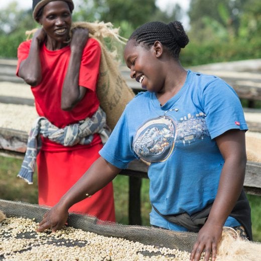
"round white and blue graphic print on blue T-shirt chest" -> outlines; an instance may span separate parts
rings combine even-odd
[[[189,146],[209,137],[205,116],[200,112],[195,116],[188,114],[178,121],[166,115],[148,120],[134,137],[134,152],[147,162],[166,161],[175,144]]]

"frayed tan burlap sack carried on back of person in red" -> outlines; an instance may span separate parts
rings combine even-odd
[[[126,104],[135,96],[135,93],[127,86],[121,76],[119,64],[116,60],[116,52],[107,49],[104,38],[122,44],[125,44],[122,40],[126,41],[126,39],[118,35],[118,29],[113,28],[111,23],[76,22],[72,24],[71,30],[74,28],[87,28],[89,37],[95,38],[100,43],[101,61],[96,91],[100,106],[106,113],[107,125],[113,129]],[[30,37],[36,30],[28,31],[26,34]]]

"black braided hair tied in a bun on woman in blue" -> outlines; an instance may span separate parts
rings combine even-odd
[[[184,48],[189,42],[182,24],[178,21],[169,24],[162,22],[146,23],[136,29],[128,40],[135,40],[136,45],[142,43],[148,49],[155,41],[159,41],[168,48],[175,59],[179,59],[181,48]]]

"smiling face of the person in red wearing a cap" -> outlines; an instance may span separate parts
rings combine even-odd
[[[47,34],[47,42],[51,45],[63,43],[68,39],[72,24],[69,6],[64,1],[52,1],[44,6],[39,19]],[[47,45],[48,45],[47,43]]]

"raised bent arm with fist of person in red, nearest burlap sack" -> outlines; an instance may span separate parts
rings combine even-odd
[[[63,83],[61,108],[71,110],[84,97],[86,88],[79,86],[82,51],[87,43],[89,31],[76,28],[72,31],[71,56]]]

